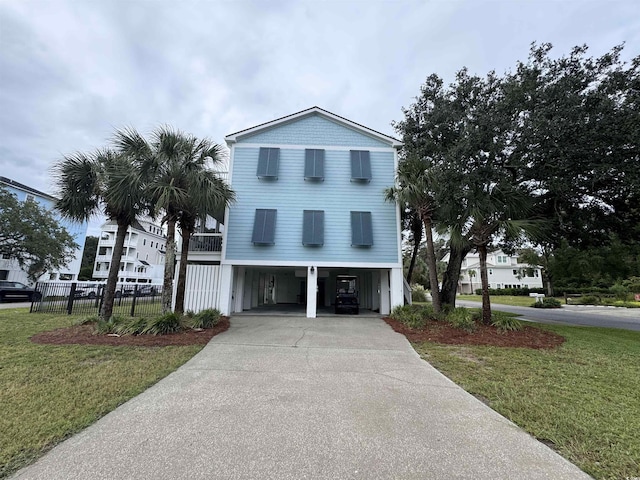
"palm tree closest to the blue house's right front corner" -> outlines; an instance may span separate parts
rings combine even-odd
[[[397,182],[385,189],[385,199],[396,201],[402,208],[413,209],[424,224],[427,239],[427,266],[433,309],[441,310],[438,270],[433,244],[436,203],[433,197],[433,178],[425,164],[417,157],[408,157],[398,165]]]

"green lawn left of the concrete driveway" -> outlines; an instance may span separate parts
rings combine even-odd
[[[37,345],[32,335],[77,316],[0,310],[0,478],[138,395],[202,345]]]

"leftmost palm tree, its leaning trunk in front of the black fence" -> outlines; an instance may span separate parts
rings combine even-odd
[[[56,209],[63,217],[86,221],[102,212],[118,226],[100,311],[100,317],[108,320],[113,313],[127,229],[149,210],[145,177],[131,157],[109,149],[65,156],[54,166],[53,176],[58,193]]]

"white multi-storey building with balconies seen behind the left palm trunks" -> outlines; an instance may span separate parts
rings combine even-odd
[[[109,276],[118,225],[107,222],[101,230],[93,268],[96,280],[106,280]],[[162,283],[166,244],[162,227],[151,221],[141,220],[129,227],[120,259],[118,282]]]

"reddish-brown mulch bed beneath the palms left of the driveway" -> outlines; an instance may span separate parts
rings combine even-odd
[[[138,347],[166,347],[168,345],[205,345],[214,336],[229,328],[229,318],[222,317],[218,324],[206,330],[185,330],[168,335],[95,335],[93,325],[74,325],[31,337],[34,343],[49,345],[132,345]]]

